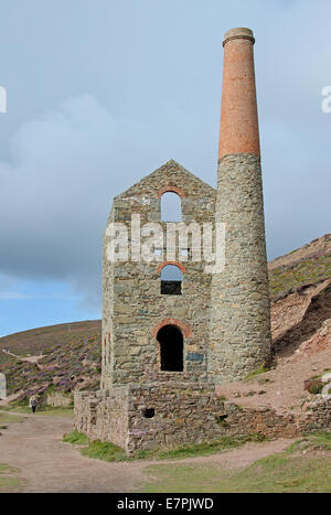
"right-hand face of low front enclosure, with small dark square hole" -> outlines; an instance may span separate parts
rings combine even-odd
[[[224,404],[212,386],[196,383],[129,385],[128,451],[217,439]],[[147,418],[146,410],[154,415]],[[149,411],[149,415],[151,412]]]

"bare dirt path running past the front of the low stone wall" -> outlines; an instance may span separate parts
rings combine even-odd
[[[42,415],[23,417],[23,422],[11,423],[0,437],[0,463],[21,470],[24,480],[21,492],[134,492],[148,480],[143,469],[157,463],[106,463],[84,458],[74,446],[62,442],[63,433],[73,429],[72,418]],[[221,454],[175,462],[213,462],[222,469],[237,469],[259,458],[281,452],[289,443],[289,440],[248,443]],[[166,464],[167,461],[161,463]]]

